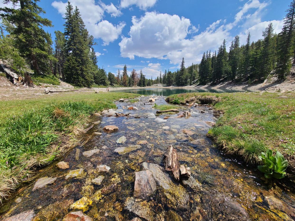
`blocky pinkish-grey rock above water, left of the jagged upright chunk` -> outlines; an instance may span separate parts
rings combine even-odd
[[[156,182],[149,170],[135,172],[134,196],[148,199],[148,196],[155,192]]]

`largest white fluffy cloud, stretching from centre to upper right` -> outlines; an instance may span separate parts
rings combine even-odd
[[[184,57],[186,65],[197,63],[204,51],[217,50],[223,39],[226,39],[229,45],[233,39],[231,34],[233,27],[243,30],[240,33],[241,37],[250,31],[253,32],[252,40],[260,38],[262,30],[267,26],[267,22],[261,22],[261,11],[266,6],[265,2],[250,0],[240,8],[233,22],[217,20],[191,38],[188,38],[188,34],[198,29],[184,17],[157,12],[146,12],[140,18],[133,16],[129,37],[123,36],[119,43],[121,56],[130,59],[134,59],[135,56],[168,59],[171,64],[179,64]],[[282,21],[272,22],[275,30],[281,29]],[[254,36],[256,33],[257,36]]]

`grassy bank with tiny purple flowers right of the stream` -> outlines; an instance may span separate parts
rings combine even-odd
[[[224,110],[210,129],[219,146],[251,163],[266,149],[280,151],[295,169],[295,93],[187,93],[167,100],[181,104],[212,104]]]

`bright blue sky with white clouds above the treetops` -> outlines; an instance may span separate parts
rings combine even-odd
[[[63,31],[66,0],[41,0],[44,17]],[[78,6],[89,34],[95,37],[98,65],[116,73],[127,65],[128,72],[140,69],[155,78],[165,69],[199,63],[207,50],[217,50],[223,39],[229,46],[240,35],[245,43],[261,38],[271,21],[276,32],[283,25],[291,0],[72,0]],[[1,3],[0,3],[1,6]]]

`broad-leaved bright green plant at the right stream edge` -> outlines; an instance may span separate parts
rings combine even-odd
[[[265,178],[270,179],[273,177],[281,179],[285,177],[288,161],[285,160],[284,156],[279,151],[273,156],[273,151],[268,149],[266,153],[261,153],[259,159],[264,165],[258,166],[258,170],[264,173]]]

